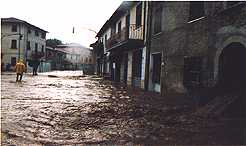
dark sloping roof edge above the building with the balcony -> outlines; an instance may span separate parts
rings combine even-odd
[[[115,23],[122,15],[126,14],[128,10],[131,8],[133,4],[138,3],[139,1],[123,1],[120,6],[115,10],[115,12],[112,14],[112,16],[107,20],[102,28],[97,33],[96,37],[100,36],[103,32],[105,32],[108,27]]]

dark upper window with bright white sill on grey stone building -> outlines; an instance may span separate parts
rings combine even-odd
[[[190,2],[190,17],[189,20],[194,20],[204,16],[204,2],[192,1]]]

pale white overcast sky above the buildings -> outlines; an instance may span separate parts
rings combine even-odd
[[[47,30],[46,39],[83,46],[96,41],[96,33],[122,0],[2,0],[0,17],[15,17]],[[73,32],[74,27],[74,33]],[[90,31],[90,30],[94,30]]]

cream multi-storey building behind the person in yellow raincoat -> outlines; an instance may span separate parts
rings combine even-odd
[[[2,69],[11,70],[18,59],[27,65],[34,60],[44,61],[46,33],[26,21],[1,18]]]

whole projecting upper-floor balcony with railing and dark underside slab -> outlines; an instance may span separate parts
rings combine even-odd
[[[124,27],[120,32],[112,34],[106,41],[106,51],[114,48],[130,48],[143,46],[143,26],[130,25]]]

